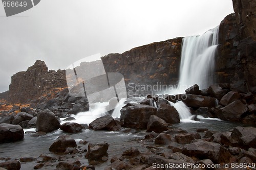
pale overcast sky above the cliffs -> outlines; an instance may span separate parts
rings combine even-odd
[[[0,4],[0,92],[36,60],[66,69],[97,53],[202,34],[230,13],[231,0],[41,0],[11,17]]]

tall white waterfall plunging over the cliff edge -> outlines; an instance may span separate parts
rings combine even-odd
[[[200,89],[207,89],[214,83],[218,32],[219,26],[202,35],[183,38],[178,85],[183,92],[194,84],[198,84]]]

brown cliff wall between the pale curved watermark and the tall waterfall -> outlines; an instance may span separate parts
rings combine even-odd
[[[179,78],[182,37],[102,57],[106,72],[119,72],[126,86],[176,84]],[[130,85],[129,85],[130,83]],[[129,90],[129,89],[128,89]]]

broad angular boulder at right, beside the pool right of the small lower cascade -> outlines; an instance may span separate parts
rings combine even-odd
[[[222,120],[237,122],[241,119],[241,115],[244,114],[247,110],[248,108],[246,105],[243,104],[241,100],[237,100],[221,108],[217,114],[218,117]]]

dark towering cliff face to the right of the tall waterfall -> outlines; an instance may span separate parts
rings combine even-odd
[[[217,79],[233,90],[256,92],[256,2],[233,0],[233,8],[220,24]]]

